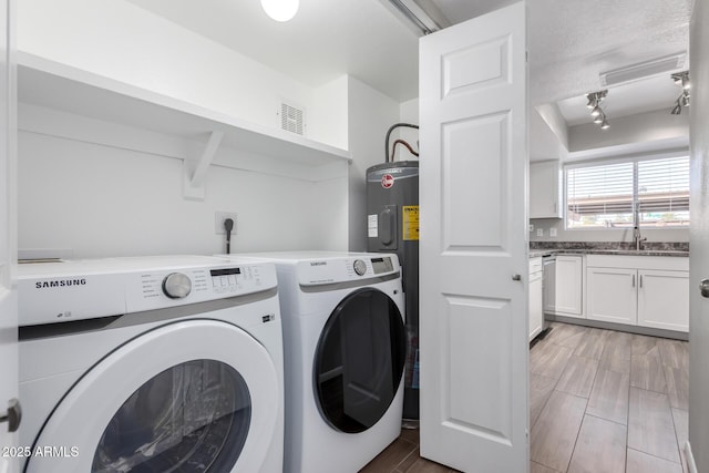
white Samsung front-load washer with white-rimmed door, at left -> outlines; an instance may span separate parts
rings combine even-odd
[[[19,315],[23,471],[282,471],[271,264],[20,265]]]

